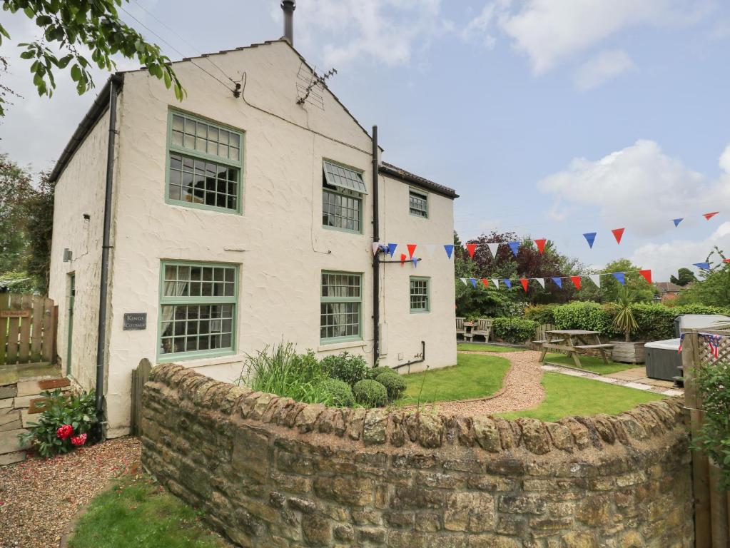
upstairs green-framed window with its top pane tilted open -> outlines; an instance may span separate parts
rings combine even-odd
[[[362,232],[362,173],[329,161],[323,162],[322,225],[348,232]]]

